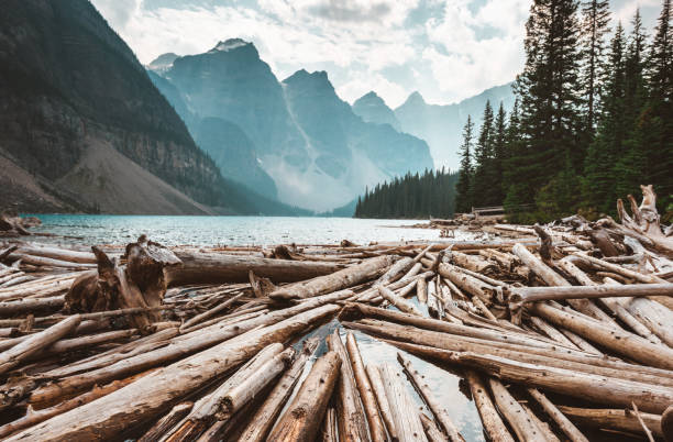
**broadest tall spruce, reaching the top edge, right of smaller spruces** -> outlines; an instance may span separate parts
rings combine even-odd
[[[509,207],[533,202],[566,158],[575,169],[584,161],[586,146],[577,135],[583,126],[577,7],[574,0],[534,0],[531,5],[526,65],[516,84],[522,145],[510,159],[516,183],[508,189]]]

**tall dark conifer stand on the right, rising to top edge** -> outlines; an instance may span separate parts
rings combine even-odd
[[[487,103],[478,133],[465,125],[456,211],[503,203],[512,221],[592,218],[641,184],[672,209],[671,1],[651,36],[638,10],[628,34],[609,15],[608,1],[533,2],[514,109]]]

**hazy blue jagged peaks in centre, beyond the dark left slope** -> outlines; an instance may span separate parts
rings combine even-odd
[[[336,96],[326,73],[299,70],[279,82],[255,46],[240,38],[172,59],[167,68],[165,62],[152,65],[162,66],[156,73],[167,81],[155,84],[185,113],[197,142],[208,139],[209,146],[201,147],[216,163],[229,162],[229,168],[220,165],[223,173],[265,195],[271,195],[268,175],[283,202],[330,210],[367,185],[432,166],[423,141],[363,121]],[[238,126],[250,143],[231,146],[222,134],[203,135],[200,121],[208,118],[219,119],[209,124],[211,131],[221,121]],[[234,155],[234,148],[245,153]],[[228,173],[236,168],[254,173]]]

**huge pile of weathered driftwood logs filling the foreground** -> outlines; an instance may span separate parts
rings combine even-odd
[[[670,438],[673,239],[643,195],[488,241],[8,244],[0,438],[463,441],[408,354],[464,379],[493,441]]]

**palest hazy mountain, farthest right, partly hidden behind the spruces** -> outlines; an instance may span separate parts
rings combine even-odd
[[[472,115],[476,126],[479,126],[486,100],[490,100],[495,111],[500,101],[505,110],[510,110],[515,101],[511,84],[486,89],[475,97],[445,106],[429,104],[419,92],[413,92],[404,104],[395,109],[395,115],[404,132],[428,142],[435,167],[446,165],[451,169],[457,169],[457,151],[467,115]]]

